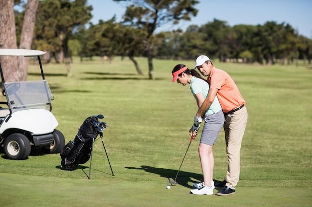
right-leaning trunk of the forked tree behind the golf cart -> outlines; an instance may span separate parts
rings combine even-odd
[[[36,11],[39,0],[28,0],[25,8],[23,27],[21,30],[19,49],[30,49],[35,27]],[[26,80],[29,58],[18,57],[19,80]]]

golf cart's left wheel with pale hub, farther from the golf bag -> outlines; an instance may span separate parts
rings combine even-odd
[[[30,149],[28,138],[22,134],[11,134],[3,142],[4,154],[9,159],[26,159]]]

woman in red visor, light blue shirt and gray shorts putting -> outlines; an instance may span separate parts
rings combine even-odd
[[[173,68],[172,76],[172,82],[177,81],[177,83],[184,86],[186,84],[190,84],[191,92],[196,99],[197,106],[199,108],[209,92],[209,83],[203,79],[196,70],[188,69],[183,64],[176,65]],[[217,97],[215,97],[210,108],[205,112],[203,120],[205,124],[200,138],[198,153],[204,181],[197,184],[196,186],[198,188],[191,190],[191,193],[196,195],[213,195],[214,182],[212,177],[214,159],[212,147],[216,142],[218,134],[224,124],[224,114]],[[193,126],[195,131],[197,131],[199,127],[200,126]],[[190,135],[193,136],[194,134],[190,132]]]

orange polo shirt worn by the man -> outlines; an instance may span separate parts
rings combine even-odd
[[[213,67],[207,80],[210,82],[210,88],[218,89],[217,97],[224,113],[245,103],[234,80],[227,72]]]

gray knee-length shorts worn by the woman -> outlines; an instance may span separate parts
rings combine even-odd
[[[202,129],[200,143],[212,146],[218,138],[219,132],[224,124],[224,114],[220,110],[216,114],[204,116],[204,127]]]

